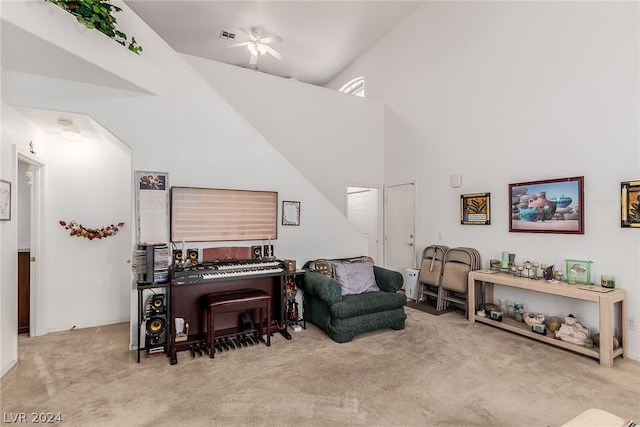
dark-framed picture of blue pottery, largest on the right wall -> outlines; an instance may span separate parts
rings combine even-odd
[[[509,184],[509,231],[584,234],[584,177]]]

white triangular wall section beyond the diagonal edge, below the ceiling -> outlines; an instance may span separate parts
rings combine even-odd
[[[341,212],[347,185],[384,184],[380,101],[182,56]]]

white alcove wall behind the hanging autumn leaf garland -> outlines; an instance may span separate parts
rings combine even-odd
[[[131,257],[131,150],[121,144],[50,136],[47,156],[42,262],[47,272],[46,330],[59,331],[129,320]],[[101,228],[125,222],[118,234],[89,240],[59,225],[76,220]]]

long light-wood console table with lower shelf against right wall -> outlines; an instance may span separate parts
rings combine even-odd
[[[627,293],[624,289],[613,289],[609,292],[596,292],[592,290],[579,289],[584,285],[569,285],[567,283],[549,283],[546,280],[532,280],[526,277],[516,277],[509,273],[491,273],[486,270],[471,271],[468,276],[469,294],[467,295],[469,321],[471,323],[481,322],[497,328],[505,329],[516,334],[524,335],[538,341],[552,344],[567,350],[581,353],[600,360],[600,364],[612,367],[613,359],[617,356],[628,357],[627,345]],[[599,333],[600,348],[587,348],[568,341],[557,340],[551,336],[541,335],[531,332],[528,325],[503,317],[499,322],[476,314],[476,285],[485,284],[485,298],[487,302],[493,301],[493,285],[519,288],[530,292],[538,292],[549,295],[557,295],[565,298],[572,298],[581,301],[598,304],[599,310]],[[615,322],[613,319],[614,305],[620,304],[620,347],[613,349],[613,329]]]

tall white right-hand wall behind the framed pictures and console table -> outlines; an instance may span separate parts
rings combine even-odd
[[[364,75],[387,105],[385,181],[419,184],[418,249],[592,260],[638,324],[640,234],[620,227],[620,182],[640,178],[638,19],[637,2],[427,2],[331,82]],[[509,183],[570,176],[585,177],[584,235],[509,233]],[[475,192],[491,193],[489,226],[460,225],[460,194]],[[597,329],[588,304],[496,297]],[[640,359],[640,330],[628,344]]]

